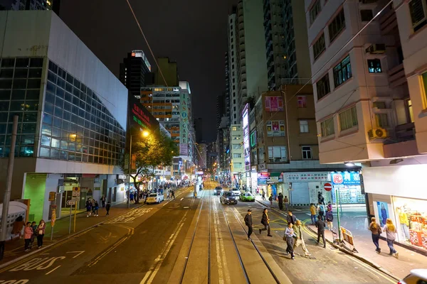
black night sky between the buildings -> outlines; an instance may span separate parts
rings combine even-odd
[[[227,16],[236,0],[130,0],[154,56],[178,62],[190,83],[203,139],[216,140],[216,96],[225,89]],[[142,49],[155,65],[126,0],[62,0],[60,17],[118,77],[127,52]]]

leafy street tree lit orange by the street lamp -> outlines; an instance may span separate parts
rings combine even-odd
[[[139,191],[142,182],[154,177],[154,168],[159,165],[172,165],[174,155],[178,153],[176,143],[159,130],[152,131],[147,137],[132,136],[132,164],[135,168],[130,171],[130,178],[134,180],[137,189],[136,203],[139,203]],[[126,165],[128,161],[122,160],[121,168],[125,174],[129,174]],[[141,177],[140,180],[137,180]]]

